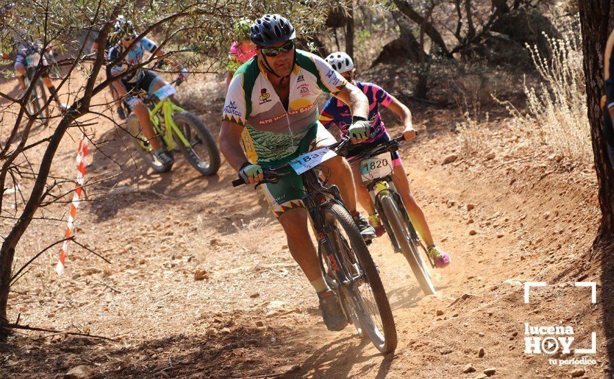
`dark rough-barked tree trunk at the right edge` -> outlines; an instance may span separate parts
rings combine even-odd
[[[582,50],[586,76],[586,103],[591,123],[591,140],[595,155],[595,171],[599,185],[602,220],[595,242],[614,236],[614,170],[609,162],[606,138],[602,129],[602,95],[604,50],[608,39],[610,0],[579,1],[582,25]]]

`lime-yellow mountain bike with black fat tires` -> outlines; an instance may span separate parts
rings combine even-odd
[[[219,170],[219,150],[215,139],[195,114],[187,112],[176,101],[171,100],[175,94],[173,85],[180,85],[179,78],[164,85],[150,94],[140,94],[149,110],[151,123],[156,134],[160,136],[161,144],[172,157],[178,149],[186,157],[190,165],[203,175],[213,175]],[[128,115],[126,125],[130,134],[136,138],[132,142],[137,152],[155,172],[170,171],[172,165],[162,165],[153,154],[153,147],[141,129],[139,119],[130,110],[124,100],[124,111]]]

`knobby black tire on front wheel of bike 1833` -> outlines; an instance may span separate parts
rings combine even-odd
[[[395,326],[393,312],[390,310],[388,296],[386,296],[382,279],[379,278],[379,273],[377,272],[377,267],[373,262],[373,258],[371,258],[355,222],[344,207],[337,203],[333,203],[332,205],[325,207],[323,212],[324,219],[330,220],[330,218],[328,218],[329,216],[335,218],[337,223],[339,223],[339,225],[344,229],[345,234],[349,238],[351,249],[353,250],[359,266],[362,268],[366,276],[365,283],[362,283],[362,285],[368,285],[371,289],[371,293],[373,294],[373,300],[375,300],[375,305],[377,306],[377,311],[379,312],[379,318],[382,321],[382,329],[384,329],[381,331],[384,334],[384,340],[378,341],[379,338],[377,337],[376,331],[369,327],[369,325],[373,325],[371,316],[367,316],[362,312],[357,311],[357,317],[359,318],[363,332],[370,338],[373,345],[375,345],[379,351],[384,354],[390,353],[390,351],[394,351],[397,347],[397,328]],[[338,253],[345,254],[345,252]],[[360,294],[356,287],[346,286],[346,289],[348,292],[351,292],[354,296],[359,298],[359,300],[363,302],[362,307],[365,307],[364,300],[362,300],[362,294]],[[350,303],[350,306],[357,307],[358,305],[353,303],[354,301],[355,300],[350,299],[350,302],[348,303]]]

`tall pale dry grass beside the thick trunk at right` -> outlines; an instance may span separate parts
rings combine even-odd
[[[525,112],[505,105],[524,130],[539,130],[540,142],[557,154],[588,163],[591,158],[590,126],[586,116],[586,92],[582,69],[582,46],[575,39],[548,38],[551,59],[542,57],[537,46],[527,46],[542,83],[524,86]]]

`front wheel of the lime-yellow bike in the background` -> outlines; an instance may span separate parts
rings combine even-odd
[[[190,165],[203,175],[215,174],[219,170],[219,150],[204,123],[190,112],[179,112],[172,119],[188,142],[186,145],[175,136],[175,143]]]

